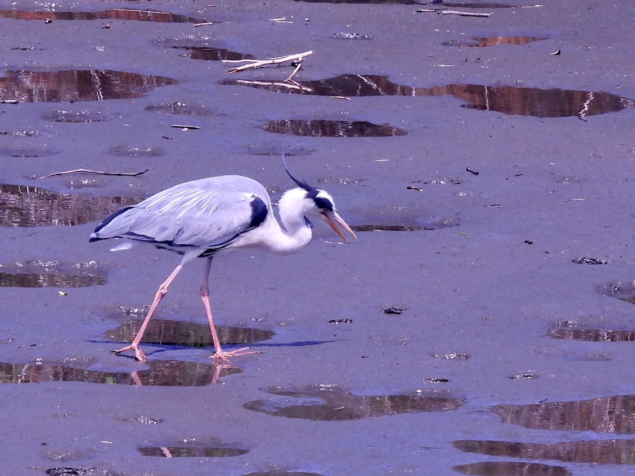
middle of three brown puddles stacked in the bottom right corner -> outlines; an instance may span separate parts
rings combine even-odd
[[[455,448],[466,453],[488,454],[505,458],[555,459],[565,463],[598,463],[601,465],[635,465],[635,440],[584,440],[556,444],[458,440],[453,441],[452,444]],[[504,474],[506,476],[508,473]],[[542,473],[537,474],[542,475]],[[545,474],[551,475],[552,473]],[[555,476],[560,473],[553,474]]]

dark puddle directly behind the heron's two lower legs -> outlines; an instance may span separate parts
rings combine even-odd
[[[143,321],[128,319],[121,326],[104,333],[104,338],[116,342],[128,342],[135,338]],[[248,327],[216,326],[221,344],[251,344],[271,339],[274,331],[262,331]],[[170,319],[151,319],[145,329],[144,343],[161,345],[184,345],[187,347],[210,347],[211,331],[209,324],[198,322],[171,321]]]

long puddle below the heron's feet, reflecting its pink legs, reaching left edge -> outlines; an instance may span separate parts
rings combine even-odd
[[[219,369],[212,364],[183,360],[148,360],[149,369],[130,372],[86,370],[64,365],[0,362],[0,383],[86,382],[117,385],[201,387],[217,378],[241,373],[237,367]],[[220,371],[220,373],[219,373]]]

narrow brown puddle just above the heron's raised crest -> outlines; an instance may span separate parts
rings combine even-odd
[[[265,131],[305,137],[390,137],[408,134],[403,129],[368,121],[327,121],[324,119],[284,119],[271,121]]]

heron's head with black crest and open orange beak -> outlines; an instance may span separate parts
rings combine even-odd
[[[357,239],[355,232],[351,230],[351,227],[349,227],[344,219],[338,215],[335,209],[333,197],[331,197],[326,190],[311,187],[308,183],[302,180],[297,180],[293,175],[291,175],[289,169],[286,168],[286,163],[284,164],[284,168],[293,182],[300,185],[300,187],[288,190],[288,192],[285,192],[281,197],[278,204],[281,216],[283,214],[283,209],[295,209],[300,213],[300,215],[304,215],[304,217],[309,221],[323,221],[326,225],[333,228],[333,231],[340,235],[345,242],[348,242],[348,239],[344,236],[340,227]]]

